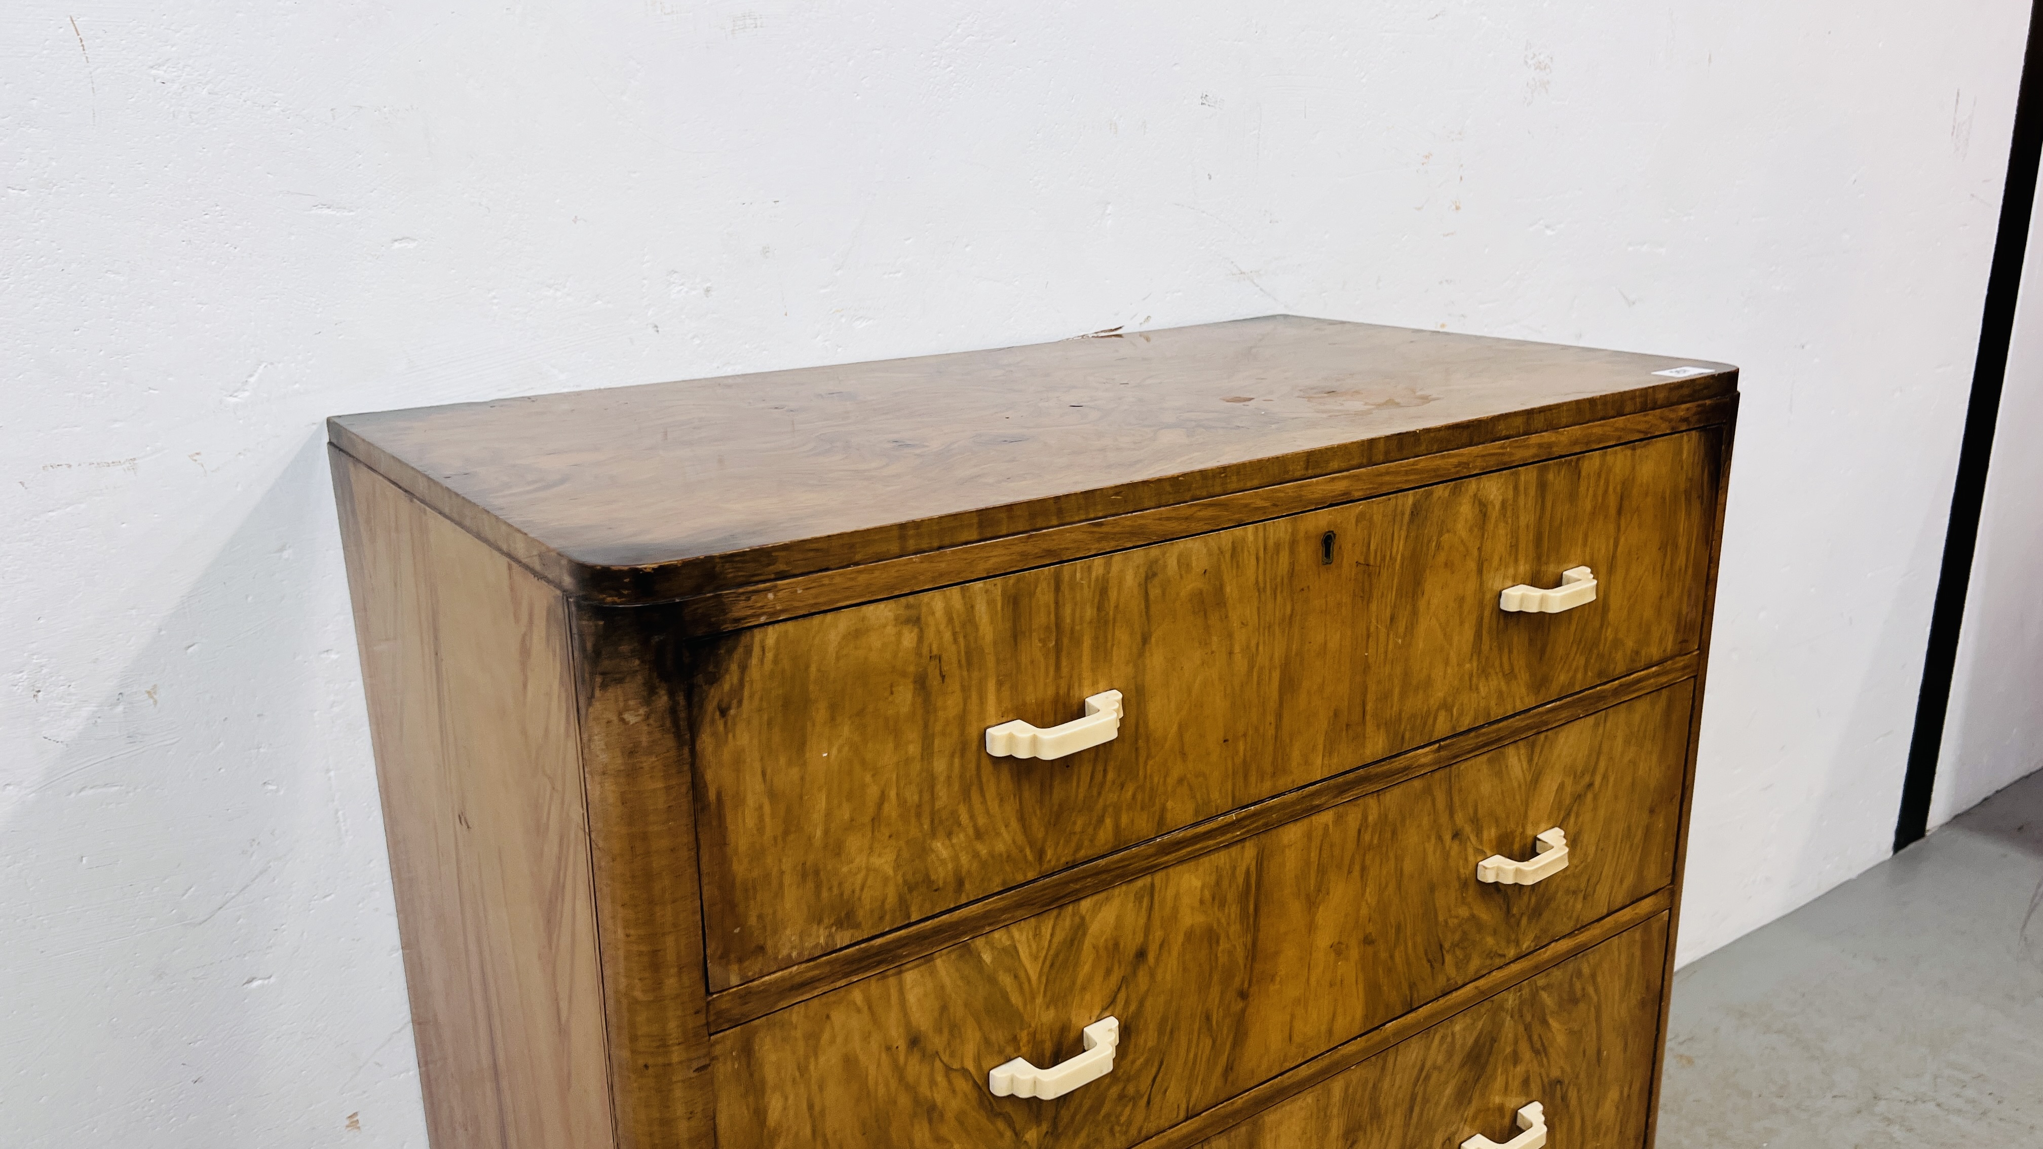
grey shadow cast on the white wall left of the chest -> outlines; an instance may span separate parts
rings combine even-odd
[[[0,828],[10,1149],[425,1145],[355,667],[315,435]]]

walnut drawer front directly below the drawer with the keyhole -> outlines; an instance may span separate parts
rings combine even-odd
[[[1692,681],[713,1039],[717,1145],[1120,1149],[1673,879]],[[1565,830],[1534,885],[1477,879]],[[1120,1020],[1113,1069],[991,1096]]]

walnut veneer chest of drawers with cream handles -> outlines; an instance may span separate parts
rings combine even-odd
[[[1735,411],[1269,317],[333,419],[433,1145],[1647,1145]]]

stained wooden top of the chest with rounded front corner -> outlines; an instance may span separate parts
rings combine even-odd
[[[1265,317],[329,421],[558,587],[703,595],[1730,395],[1737,370]]]

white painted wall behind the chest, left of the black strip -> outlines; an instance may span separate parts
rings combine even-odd
[[[1683,953],[1857,873],[2025,12],[6,4],[0,1143],[423,1145],[337,411],[1271,311],[1732,360]]]

